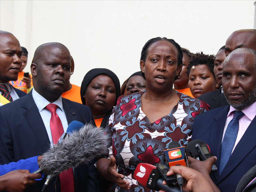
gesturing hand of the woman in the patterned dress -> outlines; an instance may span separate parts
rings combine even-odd
[[[124,189],[130,189],[129,182],[123,180],[124,176],[116,171],[115,158],[113,156],[110,156],[110,163],[104,177]]]

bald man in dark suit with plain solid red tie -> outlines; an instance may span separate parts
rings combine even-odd
[[[85,124],[93,119],[88,106],[61,97],[70,78],[70,53],[63,44],[37,47],[30,68],[34,88],[0,107],[0,164],[41,155],[57,142],[71,121]],[[61,191],[86,191],[87,166],[81,165],[74,172],[70,168],[63,174],[60,184],[56,183],[57,190],[60,185]],[[40,191],[44,180],[27,191]],[[47,191],[54,191],[53,183]]]

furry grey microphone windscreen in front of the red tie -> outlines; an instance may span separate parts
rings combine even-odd
[[[85,124],[43,153],[40,169],[46,174],[57,175],[69,167],[89,164],[95,157],[108,154],[107,138],[103,128]]]

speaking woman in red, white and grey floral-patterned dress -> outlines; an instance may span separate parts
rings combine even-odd
[[[186,145],[194,117],[208,110],[206,103],[172,89],[181,67],[182,51],[173,39],[152,38],[142,48],[146,90],[117,100],[106,127],[110,159],[97,161],[100,174],[114,183],[110,191],[153,191],[134,179],[136,165],[163,162],[171,141]]]

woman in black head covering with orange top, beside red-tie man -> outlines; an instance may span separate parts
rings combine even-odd
[[[97,127],[105,127],[116,99],[120,96],[118,77],[109,69],[93,68],[83,77],[81,100],[92,111]]]

